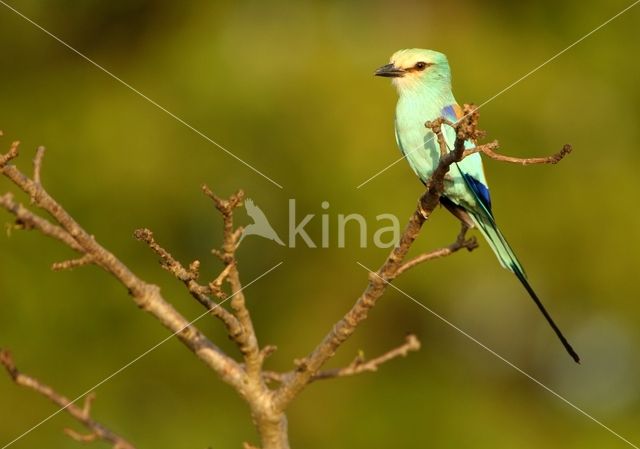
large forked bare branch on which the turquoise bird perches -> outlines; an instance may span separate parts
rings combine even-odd
[[[440,118],[427,122],[425,126],[435,134],[439,143],[441,158],[429,182],[426,184],[426,190],[420,197],[416,210],[409,218],[400,236],[399,243],[393,248],[380,269],[375,273],[369,274],[367,287],[357,298],[351,309],[335,323],[322,341],[309,354],[300,360],[296,360],[293,369],[284,373],[267,371],[263,367],[265,359],[275,350],[275,346],[265,345],[262,348],[259,346],[240,281],[236,249],[243,231],[242,227],[235,227],[233,213],[236,208],[242,205],[244,199],[242,191],[238,191],[228,199],[223,199],[216,196],[207,186],[202,188],[204,194],[213,201],[223,219],[222,246],[220,249],[212,251],[222,262],[223,268],[209,282],[203,283],[199,281],[200,262],[198,260],[185,266],[157,243],[150,230],[140,229],[135,232],[135,237],[146,243],[159,257],[161,266],[181,281],[189,294],[202,304],[210,315],[222,321],[229,338],[236,343],[242,355],[242,361],[236,361],[223,353],[193,324],[187,322],[164,299],[157,286],[146,283],[132,273],[115,255],[103,248],[93,236],[82,229],[71,215],[44,190],[41,183],[43,147],[38,148],[34,158],[33,178],[27,177],[10,164],[18,156],[18,142],[14,142],[6,154],[0,155],[0,172],[26,192],[31,198],[32,204],[48,212],[53,221],[40,217],[22,204],[17,203],[11,193],[0,196],[0,207],[5,208],[15,216],[14,226],[16,228],[40,231],[44,235],[59,240],[79,254],[79,257],[75,259],[54,264],[54,269],[70,269],[94,264],[115,276],[127,288],[140,308],[149,312],[171,332],[178,335],[183,344],[225,382],[230,384],[247,402],[260,435],[262,449],[288,449],[287,419],[284,412],[291,401],[308,384],[319,379],[345,377],[375,371],[383,363],[419,349],[420,342],[417,337],[409,335],[402,345],[379,357],[365,360],[364,357],[358,356],[346,367],[323,369],[338,348],[367,318],[369,312],[385,293],[389,282],[423,262],[449,256],[461,249],[471,251],[477,247],[477,242],[474,238],[467,239],[468,224],[463,224],[462,231],[451,245],[405,261],[424,222],[439,204],[444,190],[445,176],[450,166],[461,161],[464,157],[478,152],[482,152],[492,159],[522,165],[555,164],[571,151],[571,146],[565,145],[561,152],[550,157],[520,159],[498,154],[496,152],[498,149],[497,141],[466,149],[465,142],[472,141],[475,143],[484,135],[478,129],[478,113],[472,105],[465,105],[464,117],[458,123],[451,123]],[[445,142],[443,126],[453,127],[456,132],[456,139],[451,151],[449,151]],[[228,291],[225,291],[226,286],[228,286]],[[223,303],[227,300],[229,300],[231,310],[223,308]],[[8,359],[6,357],[6,360],[10,360],[10,357]],[[5,364],[5,366],[7,365]],[[8,366],[12,367],[12,362]],[[17,373],[15,367],[13,369],[8,368],[8,371],[15,380],[14,374]],[[23,376],[22,374],[20,375]],[[272,387],[267,382],[276,382],[277,385]],[[38,385],[40,384],[38,383]],[[60,402],[59,405],[61,407],[67,406],[67,410],[70,413],[71,410],[76,412],[80,410],[79,407],[69,403],[68,400],[65,399],[65,401]],[[88,417],[88,412],[78,416]],[[91,429],[93,430],[93,428]],[[89,435],[80,435],[73,431],[68,431],[67,433],[79,441],[102,438],[101,434],[95,431]],[[121,446],[121,449],[126,447],[130,446]],[[244,447],[256,448],[250,443],[244,443]]]

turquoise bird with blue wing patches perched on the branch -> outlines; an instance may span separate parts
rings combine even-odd
[[[389,64],[376,70],[375,75],[392,78],[399,95],[395,118],[396,141],[420,181],[427,183],[438,165],[440,149],[435,135],[425,126],[425,122],[444,117],[455,123],[462,118],[462,109],[451,92],[451,70],[447,57],[436,51],[419,48],[400,50],[391,56]],[[451,150],[455,131],[451,126],[443,125],[442,132]],[[466,142],[467,148],[473,146],[473,142]],[[450,167],[440,201],[465,225],[480,229],[500,264],[516,275],[567,352],[579,363],[578,354],[529,284],[522,265],[496,225],[479,153]]]

